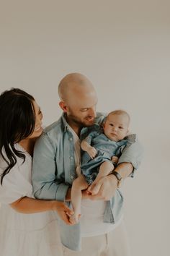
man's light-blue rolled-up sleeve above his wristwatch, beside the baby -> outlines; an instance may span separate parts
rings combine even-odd
[[[122,155],[119,158],[118,164],[120,163],[132,163],[133,173],[130,175],[133,177],[134,171],[140,166],[143,159],[143,145],[136,140],[131,145],[127,145],[122,151]]]

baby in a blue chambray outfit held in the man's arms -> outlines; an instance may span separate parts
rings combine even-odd
[[[82,174],[73,181],[71,188],[74,211],[70,218],[71,223],[77,223],[81,216],[81,190],[87,189],[91,193],[91,184],[94,187],[99,179],[114,170],[123,148],[128,144],[126,136],[129,124],[130,116],[127,112],[112,111],[107,115],[103,127],[94,124],[89,135],[82,140]],[[94,187],[91,194],[97,195],[98,192]]]

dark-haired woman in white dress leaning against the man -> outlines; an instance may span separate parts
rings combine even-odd
[[[70,224],[72,212],[63,202],[32,196],[32,154],[41,126],[42,112],[31,95],[15,88],[1,93],[1,256],[60,255],[56,213]]]

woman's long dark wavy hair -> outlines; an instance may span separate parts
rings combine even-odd
[[[25,161],[24,153],[17,150],[14,144],[31,135],[35,128],[33,101],[32,95],[18,88],[5,90],[0,95],[0,155],[7,163],[1,174],[1,184],[4,176],[17,163],[16,155]]]

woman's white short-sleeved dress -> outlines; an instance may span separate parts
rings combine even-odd
[[[16,144],[15,147],[23,151]],[[17,164],[6,174],[0,185],[0,255],[1,256],[58,256],[61,244],[58,237],[56,212],[17,213],[9,204],[21,197],[32,196],[32,157],[26,154],[24,163]],[[6,163],[0,158],[0,173]]]

